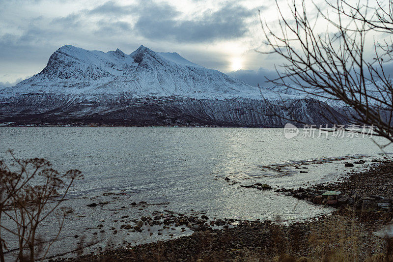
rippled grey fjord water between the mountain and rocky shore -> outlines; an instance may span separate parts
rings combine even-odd
[[[77,248],[80,240],[74,235],[98,239],[85,250],[94,252],[109,243],[112,248],[169,239],[169,233],[191,234],[180,228],[162,231],[161,236],[158,228],[151,229],[151,236],[147,231],[119,229],[121,224],[133,224],[133,219],[168,214],[168,210],[205,212],[210,219],[280,217],[284,223],[327,214],[332,211],[329,207],[241,185],[307,187],[362,169],[357,164],[345,168],[346,161],[382,158],[368,138],[285,139],[281,128],[0,127],[0,148],[0,159],[9,159],[4,151],[10,148],[18,158],[47,158],[59,171],[76,168],[84,174],[63,203],[74,212],[67,216],[49,255]],[[130,205],[140,201],[147,204]],[[86,206],[92,202],[108,204]],[[45,239],[56,236],[56,221],[54,216],[43,222]],[[96,239],[93,233],[99,232],[99,224],[104,224],[105,232]],[[116,237],[111,228],[119,229]],[[16,243],[11,241],[9,248],[17,250]],[[14,253],[7,256],[13,258]]]

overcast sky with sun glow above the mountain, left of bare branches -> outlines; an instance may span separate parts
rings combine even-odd
[[[280,63],[255,52],[264,47],[258,9],[262,20],[278,26],[274,1],[0,0],[0,86],[38,73],[67,44],[126,54],[140,45],[177,52],[256,85],[276,76]]]

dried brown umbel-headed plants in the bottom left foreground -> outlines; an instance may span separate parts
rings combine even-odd
[[[16,260],[32,262],[38,255],[43,259],[56,241],[66,214],[72,212],[57,207],[74,180],[82,177],[81,172],[69,170],[60,174],[45,159],[17,159],[11,150],[8,155],[9,161],[0,160],[0,261],[4,262],[8,241],[18,241]],[[55,211],[58,215],[58,233],[45,247],[39,241],[37,229]],[[12,223],[5,224],[5,220]],[[3,232],[11,235],[10,239],[5,239]]]

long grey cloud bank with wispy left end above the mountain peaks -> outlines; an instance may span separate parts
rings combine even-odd
[[[216,39],[233,39],[248,32],[245,19],[257,15],[234,2],[228,2],[218,11],[206,11],[197,19],[180,20],[175,6],[154,0],[139,0],[136,4],[119,5],[107,1],[93,9],[84,9],[66,17],[56,18],[53,24],[65,30],[84,26],[92,16],[102,16],[97,24],[95,35],[112,36],[115,33],[139,34],[150,40],[176,40],[178,42],[208,42]],[[134,27],[131,23],[120,22],[116,18],[131,15],[137,18]],[[131,21],[130,21],[131,22]]]

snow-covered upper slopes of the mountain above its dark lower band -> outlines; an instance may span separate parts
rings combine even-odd
[[[128,95],[133,98],[181,96],[196,99],[234,97],[263,99],[277,94],[247,85],[207,69],[177,53],[157,53],[140,46],[130,55],[66,45],[59,48],[38,74],[0,94]]]

